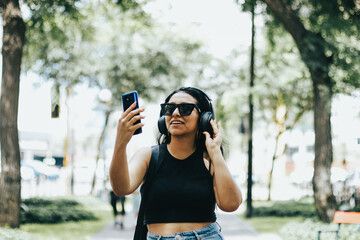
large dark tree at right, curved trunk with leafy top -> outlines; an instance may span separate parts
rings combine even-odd
[[[331,99],[336,89],[331,78],[331,68],[341,62],[339,49],[332,42],[340,33],[356,36],[359,32],[359,6],[356,1],[287,1],[264,0],[269,13],[276,17],[290,33],[299,50],[312,80],[314,97],[315,162],[313,189],[317,214],[320,220],[333,218],[336,202],[330,183],[330,168],[333,159],[331,142]],[[351,59],[358,59],[350,56]],[[357,64],[357,63],[352,63]],[[340,64],[336,65],[340,67]],[[344,70],[344,69],[343,69]],[[346,70],[346,69],[345,69]],[[355,76],[359,73],[354,73]],[[358,71],[357,71],[358,72]],[[350,73],[348,71],[348,73]],[[359,80],[343,82],[359,86]]]

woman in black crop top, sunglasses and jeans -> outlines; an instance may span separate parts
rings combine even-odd
[[[127,161],[126,145],[144,118],[133,104],[118,124],[110,180],[116,195],[134,192],[149,167],[151,148],[139,150]],[[220,124],[214,119],[203,129],[204,115],[214,114],[209,97],[188,87],[171,93],[161,104],[158,138],[165,154],[151,182],[145,223],[147,239],[223,239],[216,224],[215,204],[227,212],[242,202],[240,189],[226,166],[222,151]],[[161,125],[161,124],[159,124]],[[194,238],[196,237],[196,238]]]

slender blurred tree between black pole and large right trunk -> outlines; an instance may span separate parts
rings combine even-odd
[[[296,46],[283,29],[277,30],[276,44],[268,42],[259,49],[256,89],[257,105],[269,129],[275,130],[275,146],[268,180],[268,200],[271,199],[272,175],[277,158],[285,147],[279,144],[282,135],[294,128],[304,113],[312,110],[311,80],[294,49]],[[279,70],[281,69],[281,70]],[[273,136],[273,135],[272,135]]]

